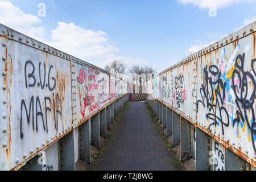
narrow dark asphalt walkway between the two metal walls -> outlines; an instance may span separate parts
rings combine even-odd
[[[92,170],[182,170],[144,102],[130,102],[97,163]]]

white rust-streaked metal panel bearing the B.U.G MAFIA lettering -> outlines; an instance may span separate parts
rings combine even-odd
[[[69,60],[14,40],[6,51],[6,157],[13,169],[71,128],[71,69]]]

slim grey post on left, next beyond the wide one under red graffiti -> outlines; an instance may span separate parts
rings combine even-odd
[[[91,118],[90,125],[92,135],[91,144],[94,147],[100,148],[100,113],[95,114]]]

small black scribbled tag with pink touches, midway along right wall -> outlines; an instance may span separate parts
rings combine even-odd
[[[174,88],[175,88],[175,92],[173,93],[172,97],[174,101],[176,100],[177,109],[179,109],[181,104],[183,104],[184,101],[187,100],[187,94],[184,87],[183,75],[179,75],[175,77]]]

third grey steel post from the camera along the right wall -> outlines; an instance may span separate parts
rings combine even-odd
[[[188,122],[181,119],[181,136],[180,136],[180,159],[188,159]]]

